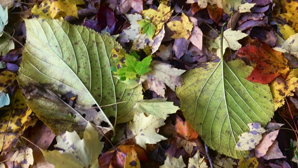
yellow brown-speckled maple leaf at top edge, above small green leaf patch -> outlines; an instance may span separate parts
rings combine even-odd
[[[171,11],[171,6],[168,6],[167,0],[162,0],[157,8],[143,10],[141,12],[144,18],[149,17],[151,22],[156,26],[155,35],[157,35],[163,28],[165,22],[171,17],[173,11]]]

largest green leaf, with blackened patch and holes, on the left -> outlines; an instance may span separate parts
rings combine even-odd
[[[120,46],[110,36],[55,19],[25,19],[25,24],[17,80],[29,107],[54,133],[82,134],[87,121],[111,129],[108,117],[129,113],[142,98],[141,86],[129,90],[112,77],[111,50]],[[97,112],[94,105],[104,107]]]

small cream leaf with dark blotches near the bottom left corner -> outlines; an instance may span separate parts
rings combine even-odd
[[[18,149],[8,161],[17,162],[21,168],[29,168],[30,165],[33,165],[32,149],[28,147]]]

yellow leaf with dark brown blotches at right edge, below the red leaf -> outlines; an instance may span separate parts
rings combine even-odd
[[[287,96],[294,96],[293,91],[298,89],[298,69],[293,69],[288,78],[276,78],[270,84],[271,93],[274,100],[275,110],[285,104]]]

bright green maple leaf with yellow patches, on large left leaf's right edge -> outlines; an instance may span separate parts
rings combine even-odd
[[[151,55],[147,56],[142,61],[139,61],[133,55],[125,54],[125,66],[117,69],[117,71],[114,73],[123,77],[124,80],[134,79],[137,77],[137,75],[142,75],[151,70],[149,68],[151,60]]]

